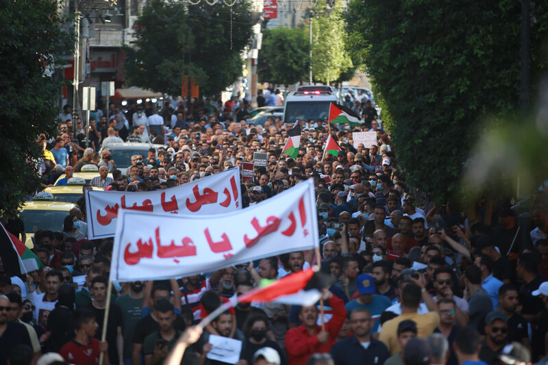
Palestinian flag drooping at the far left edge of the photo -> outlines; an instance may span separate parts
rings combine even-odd
[[[9,277],[18,276],[27,273],[27,268],[23,260],[35,260],[36,270],[44,266],[44,264],[36,257],[36,255],[25,246],[21,240],[10,234],[7,229],[0,223],[0,257],[5,274]],[[32,265],[34,266],[34,264]]]

